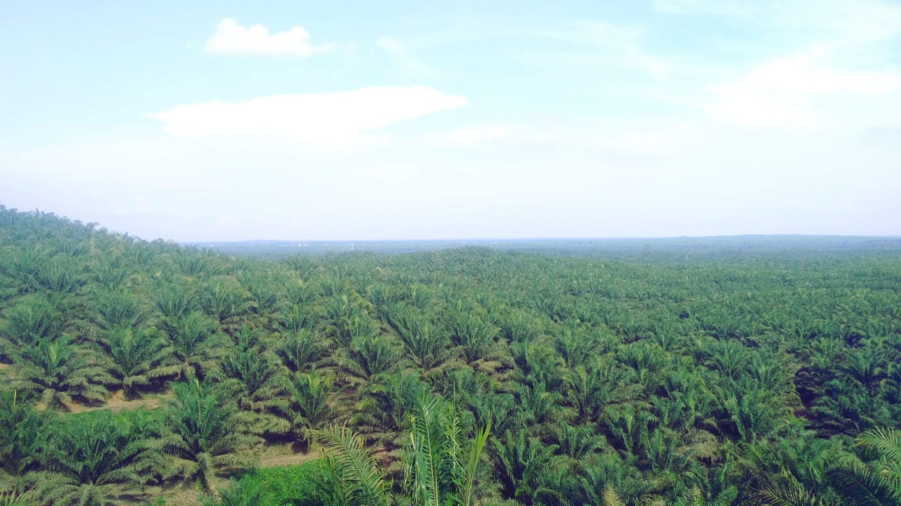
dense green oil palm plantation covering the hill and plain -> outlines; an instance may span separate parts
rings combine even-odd
[[[282,446],[328,503],[901,501],[894,250],[270,260],[0,208],[0,376],[0,503]]]

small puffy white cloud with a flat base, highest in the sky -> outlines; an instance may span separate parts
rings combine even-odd
[[[225,18],[206,41],[205,50],[215,55],[308,57],[333,47],[333,44],[313,45],[310,33],[301,26],[294,26],[287,32],[269,33],[262,24],[245,27],[236,20]]]

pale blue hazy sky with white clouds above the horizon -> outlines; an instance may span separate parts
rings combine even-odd
[[[0,204],[142,239],[901,235],[901,2],[0,0]]]

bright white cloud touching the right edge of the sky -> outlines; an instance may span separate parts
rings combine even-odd
[[[716,98],[705,112],[718,121],[751,126],[861,126],[853,123],[878,124],[886,119],[886,106],[898,105],[901,73],[829,68],[820,61],[822,53],[773,59],[710,86]]]

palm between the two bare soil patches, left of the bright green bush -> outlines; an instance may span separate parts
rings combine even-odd
[[[232,392],[197,380],[175,384],[172,390],[165,447],[178,474],[211,491],[216,473],[256,464],[247,450],[261,439],[250,434],[252,420],[238,409]]]

